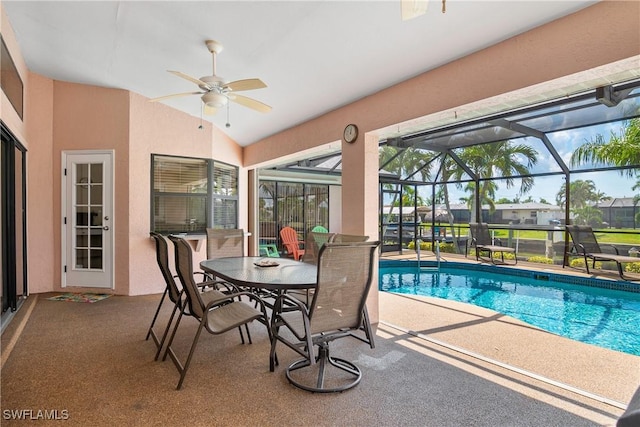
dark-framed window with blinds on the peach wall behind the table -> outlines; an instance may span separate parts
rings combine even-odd
[[[238,168],[211,159],[151,156],[151,230],[237,228]]]

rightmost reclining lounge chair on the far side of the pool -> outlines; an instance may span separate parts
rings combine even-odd
[[[618,267],[618,274],[620,278],[625,279],[624,271],[622,268],[623,263],[628,262],[640,262],[640,258],[621,255],[620,250],[614,245],[598,244],[598,239],[593,233],[593,229],[588,225],[567,225],[567,231],[571,236],[571,245],[569,251],[565,254],[562,267],[564,268],[569,264],[569,257],[579,256],[584,259],[584,265],[589,274],[589,261],[591,259],[593,264],[592,268],[596,268],[596,261],[612,261],[616,263]],[[615,253],[606,253],[602,250],[602,247],[611,247]]]

